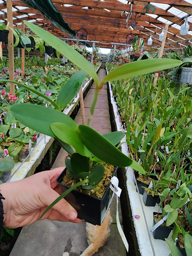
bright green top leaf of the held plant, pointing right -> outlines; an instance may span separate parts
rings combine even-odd
[[[111,73],[109,73],[102,80],[102,84],[108,81],[115,81],[119,79],[125,79],[134,76],[140,76],[148,73],[152,73],[158,70],[164,70],[172,67],[176,67],[181,64],[181,61],[172,59],[148,59],[142,61],[134,61],[125,64],[121,67],[117,67]]]

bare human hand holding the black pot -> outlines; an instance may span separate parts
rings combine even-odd
[[[4,226],[8,228],[24,227],[38,221],[47,207],[61,195],[61,189],[56,183],[63,167],[51,171],[40,172],[24,180],[3,183],[0,193],[3,201]],[[52,221],[81,222],[76,210],[61,199],[42,218]]]

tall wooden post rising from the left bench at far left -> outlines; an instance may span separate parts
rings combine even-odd
[[[7,22],[9,27],[13,27],[13,10],[12,10],[12,0],[7,0]],[[9,51],[9,79],[14,80],[14,48],[13,45],[13,32],[9,29],[8,36],[8,51]],[[15,85],[10,83],[10,93],[15,95]]]

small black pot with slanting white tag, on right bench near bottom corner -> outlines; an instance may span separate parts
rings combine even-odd
[[[154,215],[156,215],[158,212],[153,212],[153,226],[156,224],[155,223],[155,219],[154,219]],[[172,224],[169,227],[166,226],[159,226],[156,228],[156,230],[154,230],[153,232],[153,237],[154,239],[161,239],[164,240],[166,238],[168,238],[169,234],[171,233],[171,231],[174,229],[174,224]]]

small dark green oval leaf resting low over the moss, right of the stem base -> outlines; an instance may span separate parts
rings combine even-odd
[[[102,164],[96,165],[90,172],[89,185],[96,186],[105,174],[105,167]]]

